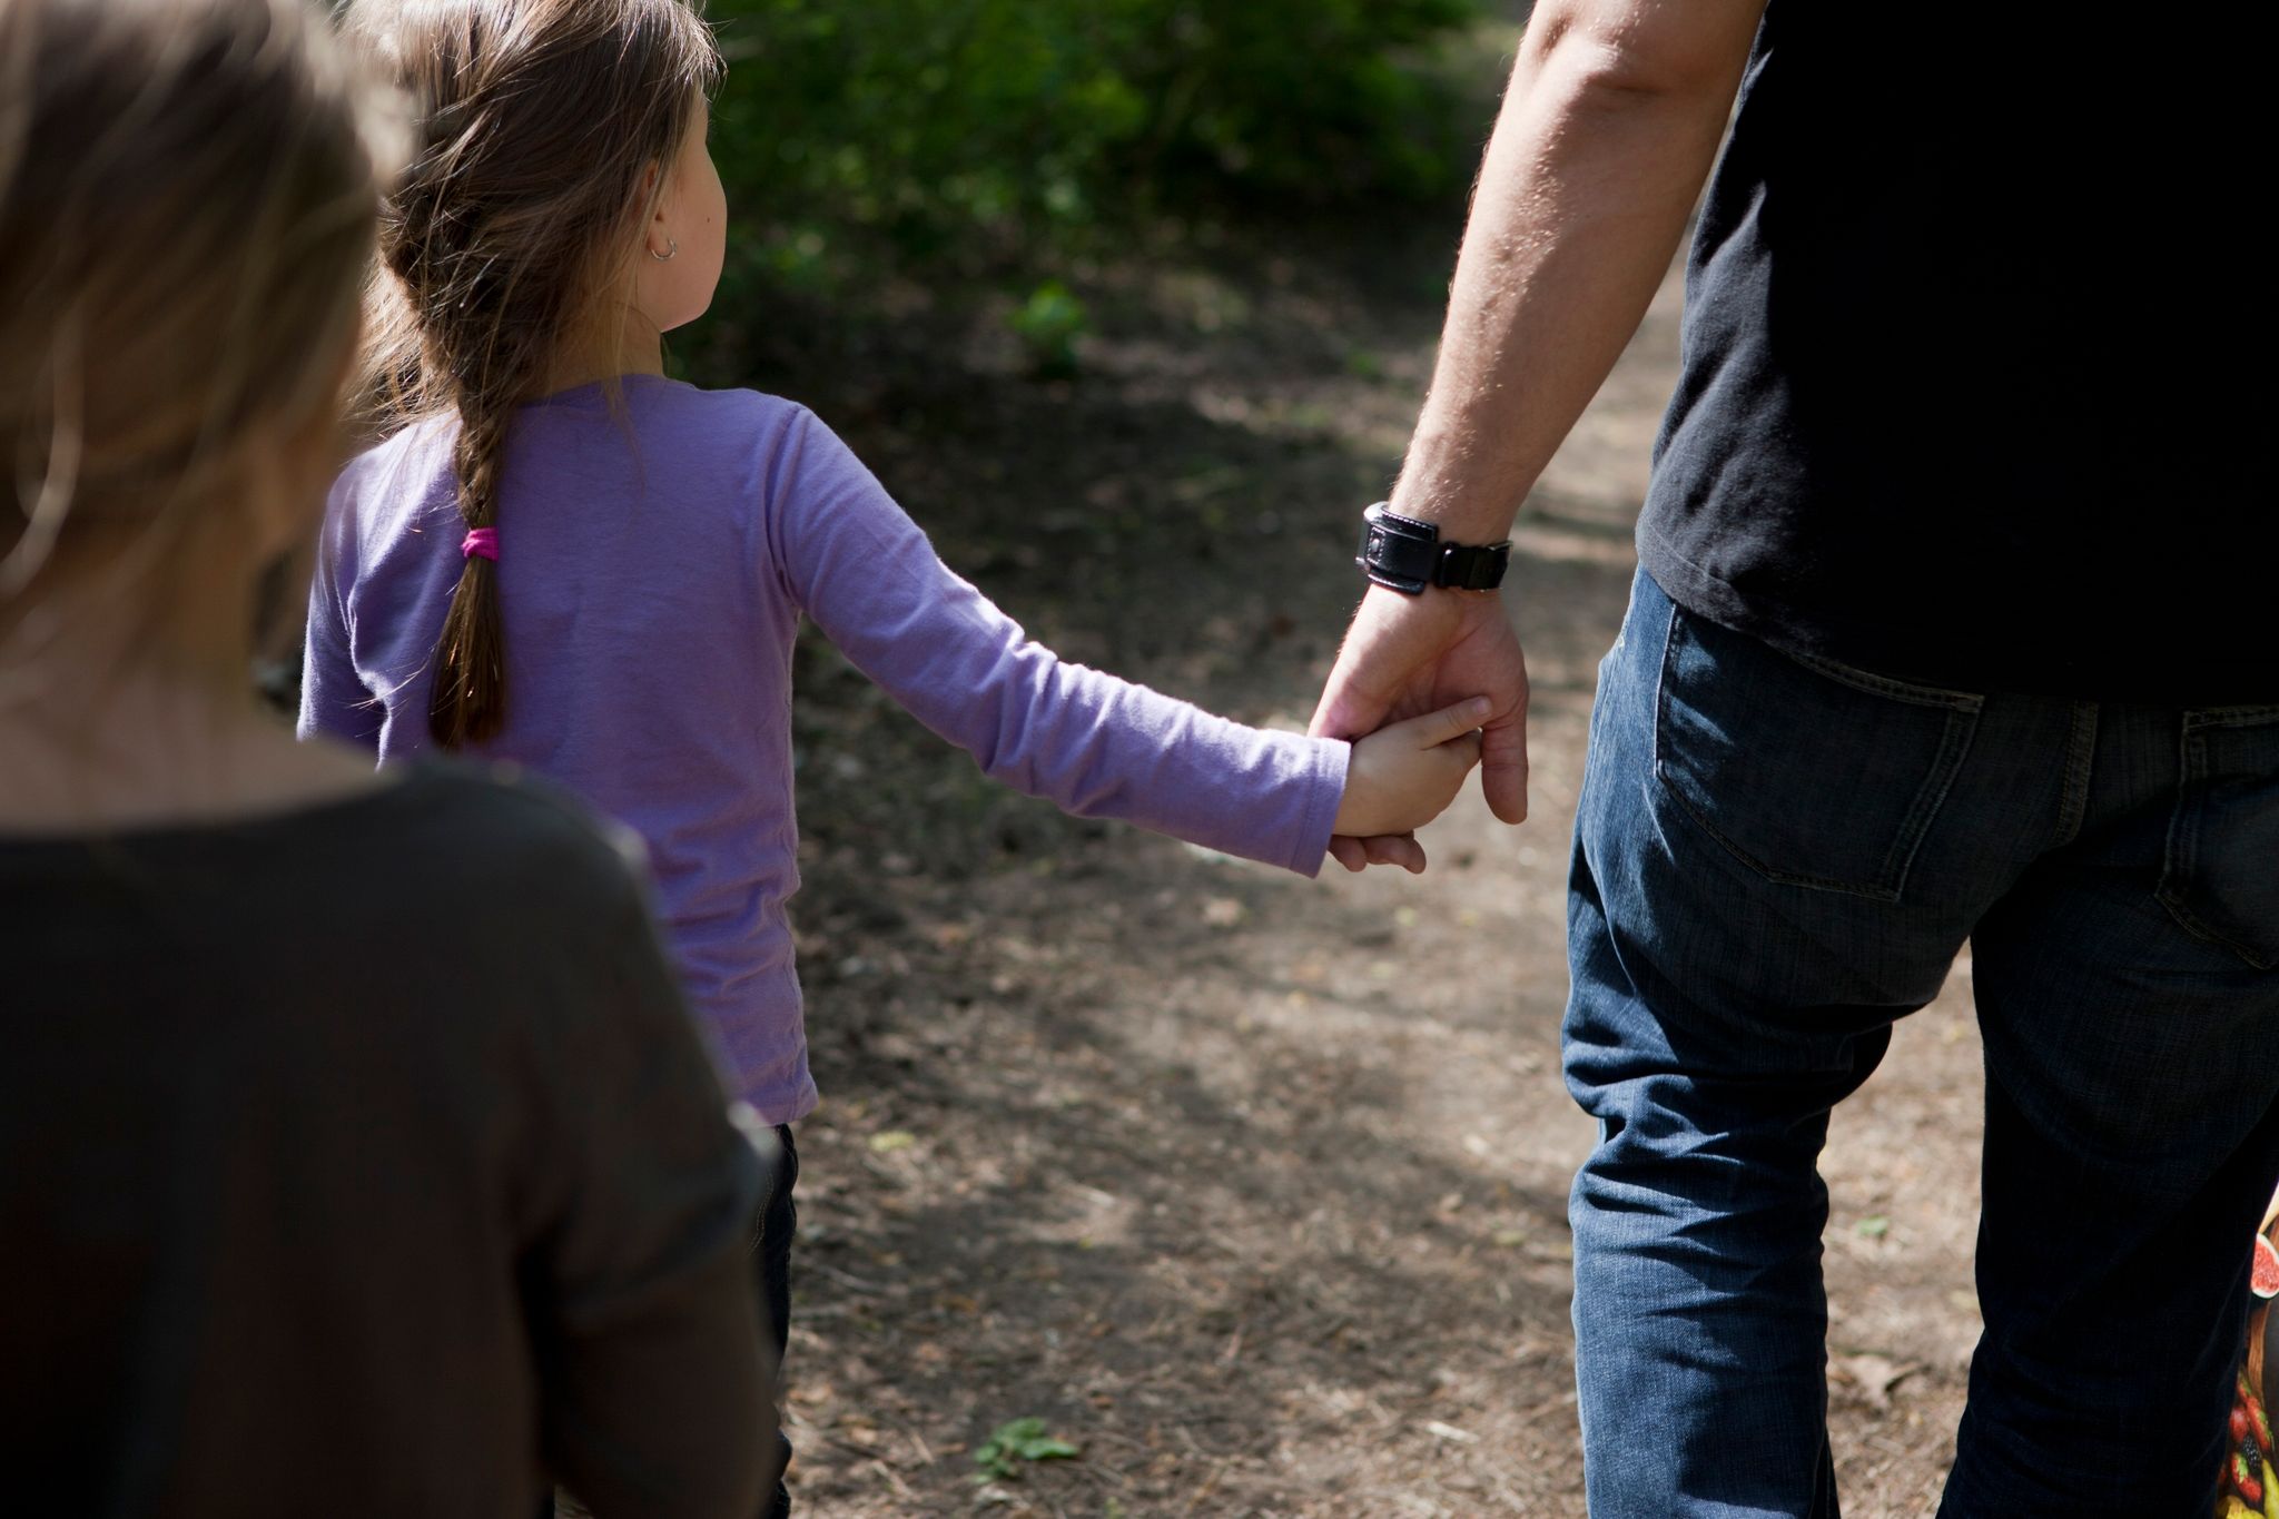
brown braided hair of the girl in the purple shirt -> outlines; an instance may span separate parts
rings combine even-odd
[[[365,424],[456,412],[458,512],[492,528],[513,410],[622,273],[720,52],[686,0],[351,0],[346,27],[417,118],[381,216]],[[456,749],[504,722],[497,567],[469,556],[435,644],[428,729]]]

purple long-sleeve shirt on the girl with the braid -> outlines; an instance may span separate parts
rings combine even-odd
[[[729,1082],[770,1123],[816,1105],[784,906],[800,886],[791,644],[807,613],[982,770],[1315,875],[1347,745],[1247,729],[1030,642],[811,412],[634,376],[515,417],[501,474],[506,729],[526,765],[631,824]],[[433,649],[460,574],[451,424],[333,487],[301,733],[428,749]]]

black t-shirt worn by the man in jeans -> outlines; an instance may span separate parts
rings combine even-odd
[[[1967,690],[2279,697],[2274,30],[1771,0],[1639,524],[1664,590]]]

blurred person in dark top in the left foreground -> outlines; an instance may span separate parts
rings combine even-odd
[[[0,1508],[748,1519],[763,1171],[624,854],[251,692],[367,91],[305,0],[7,0],[0,80]]]

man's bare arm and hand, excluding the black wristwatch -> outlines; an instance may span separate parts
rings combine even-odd
[[[1395,508],[1495,542],[1645,317],[1716,157],[1764,0],[1543,0],[1472,196]],[[1495,594],[1370,588],[1313,715],[1333,738],[1488,697],[1481,790],[1527,815],[1527,660]],[[1424,868],[1415,838],[1338,838]]]

